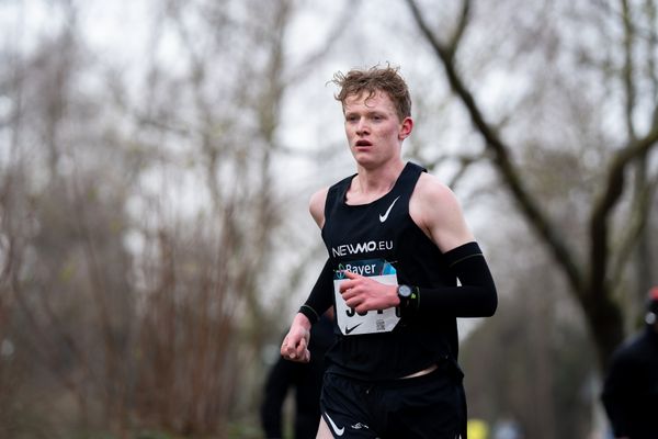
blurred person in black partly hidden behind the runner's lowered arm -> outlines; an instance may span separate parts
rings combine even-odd
[[[268,439],[283,437],[283,404],[288,391],[295,392],[294,439],[315,438],[320,421],[320,391],[325,373],[325,352],[333,342],[332,312],[314,325],[310,362],[279,358],[270,369],[261,404],[261,425]]]

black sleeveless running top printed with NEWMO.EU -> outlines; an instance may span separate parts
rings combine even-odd
[[[390,192],[370,204],[345,203],[354,176],[329,188],[322,239],[334,270],[350,262],[384,259],[395,268],[399,284],[456,285],[443,254],[409,216],[409,199],[424,171],[408,162]],[[329,372],[362,380],[390,380],[457,358],[455,317],[407,317],[388,333],[347,336],[341,334],[338,319],[334,322],[338,339],[327,353]]]

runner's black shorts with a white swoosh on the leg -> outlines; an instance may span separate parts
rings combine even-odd
[[[462,378],[451,361],[427,375],[385,382],[327,373],[322,418],[340,439],[466,439]]]

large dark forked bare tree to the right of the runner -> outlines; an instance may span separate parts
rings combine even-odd
[[[647,169],[658,143],[656,15],[645,13],[655,3],[510,0],[494,11],[465,0],[454,30],[443,35],[430,24],[430,7],[407,3],[501,182],[566,277],[602,367],[624,337],[622,297],[651,281],[643,275],[634,283],[625,274],[632,263],[647,272],[654,261],[648,244],[639,247],[640,260],[632,250],[648,243],[640,237],[658,180]],[[503,71],[518,78],[513,99],[497,114],[480,103],[488,90],[477,86],[490,83],[477,77],[483,66],[469,71],[460,57],[478,23],[496,27],[478,33],[495,50],[492,70],[509,63]],[[567,194],[557,212],[546,210],[543,191],[551,188]]]

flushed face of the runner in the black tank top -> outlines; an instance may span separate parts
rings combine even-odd
[[[388,94],[350,95],[343,112],[350,150],[359,165],[371,167],[399,157],[401,142],[411,132],[411,119],[400,122]]]

